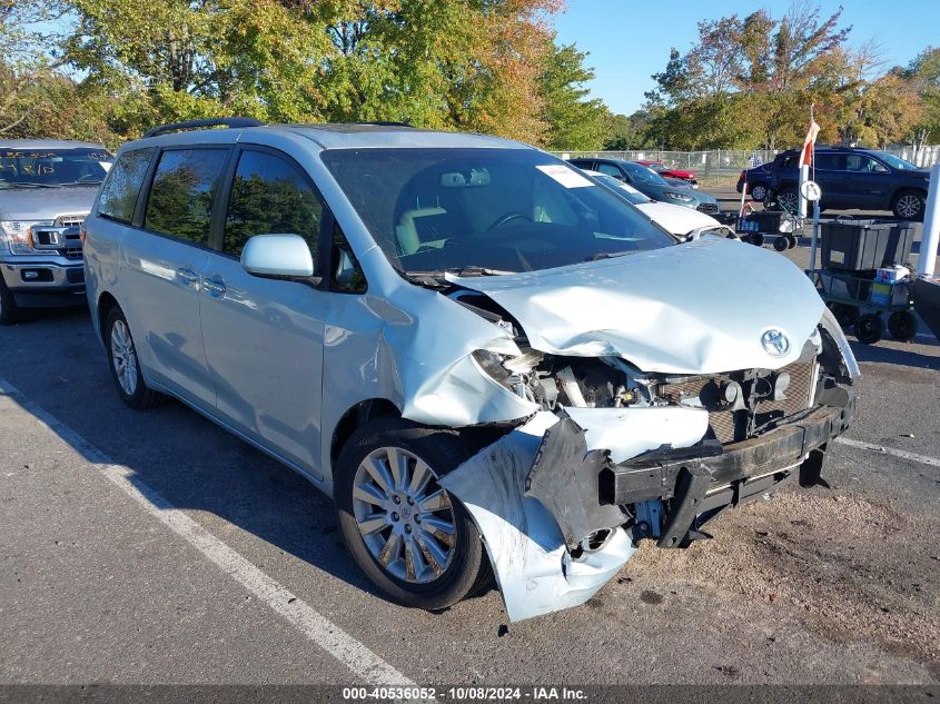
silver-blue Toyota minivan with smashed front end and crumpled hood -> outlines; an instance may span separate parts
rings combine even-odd
[[[410,606],[494,574],[514,621],[583,603],[640,541],[819,482],[853,415],[855,360],[790,261],[680,242],[503,139],[166,126],[85,237],[123,400],[174,396],[308,477]]]

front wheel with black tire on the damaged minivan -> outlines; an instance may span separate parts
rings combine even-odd
[[[339,531],[356,564],[393,602],[439,611],[492,582],[476,525],[463,505],[436,484],[471,454],[452,430],[399,419],[369,424],[343,447],[334,476]],[[429,469],[424,489],[395,486],[389,472],[389,457],[395,455],[405,458],[406,476],[414,477],[420,465]],[[422,496],[425,505],[428,497],[438,497],[433,503],[438,508],[419,510]],[[434,533],[427,529],[432,520]]]

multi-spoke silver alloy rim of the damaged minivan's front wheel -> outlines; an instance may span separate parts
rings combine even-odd
[[[363,458],[353,482],[353,513],[372,556],[398,579],[427,584],[454,558],[451,498],[427,463],[408,450],[379,447]]]

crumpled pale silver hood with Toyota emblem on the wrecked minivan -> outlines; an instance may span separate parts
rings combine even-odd
[[[706,237],[544,271],[454,277],[513,315],[530,345],[577,357],[622,357],[644,371],[718,374],[795,361],[823,313],[785,257]],[[790,349],[763,347],[769,328]]]

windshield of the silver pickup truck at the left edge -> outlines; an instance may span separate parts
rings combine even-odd
[[[113,159],[103,148],[0,147],[0,189],[97,186],[105,179]]]

